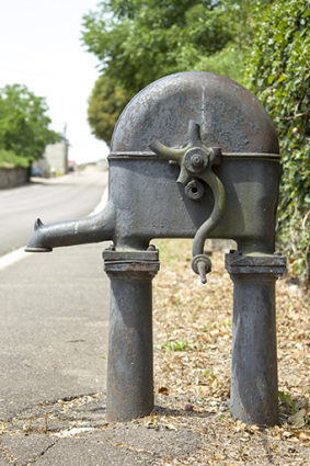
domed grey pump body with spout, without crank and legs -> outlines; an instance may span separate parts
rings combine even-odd
[[[248,90],[207,72],[172,75],[139,92],[114,130],[106,209],[84,219],[37,223],[26,250],[44,252],[107,239],[118,250],[143,250],[157,237],[194,238],[213,213],[213,190],[204,180],[198,196],[195,186],[188,191],[176,185],[177,166],[149,148],[158,139],[184,149],[190,121],[200,126],[199,139],[213,147],[215,162],[221,159],[213,172],[225,189],[227,206],[206,235],[234,239],[244,253],[272,253],[279,179],[273,123]],[[202,241],[194,249],[200,253]]]

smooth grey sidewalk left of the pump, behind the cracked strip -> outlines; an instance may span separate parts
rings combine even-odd
[[[28,406],[105,389],[110,284],[104,247],[30,254],[0,271],[4,421]]]

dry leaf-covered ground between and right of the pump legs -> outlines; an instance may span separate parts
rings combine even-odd
[[[249,428],[229,411],[232,283],[223,253],[213,253],[214,271],[207,285],[202,285],[191,270],[191,240],[156,245],[161,272],[154,280],[154,386],[161,408],[147,422],[171,429],[186,425],[207,439],[200,454],[171,465],[310,465],[310,308],[306,298],[286,280],[278,281],[282,422],[275,428]]]

